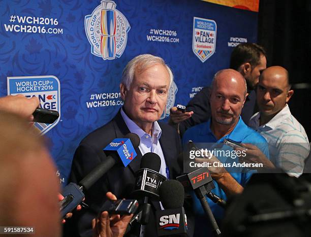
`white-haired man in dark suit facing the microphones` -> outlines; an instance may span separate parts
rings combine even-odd
[[[177,156],[181,152],[177,132],[167,124],[158,123],[166,106],[173,75],[162,58],[150,54],[132,59],[122,74],[120,93],[124,101],[117,115],[106,125],[91,132],[77,148],[70,174],[70,182],[79,182],[92,168],[101,163],[103,148],[113,139],[124,138],[134,132],[140,137],[137,157],[127,166],[115,165],[85,193],[89,205],[76,213],[67,224],[70,236],[91,236],[91,221],[102,210],[105,194],[111,191],[118,198],[130,198],[135,185],[135,172],[140,168],[142,155],[157,153],[161,158],[160,173],[174,179],[181,173]],[[159,202],[152,202],[152,211],[160,209]],[[73,233],[74,232],[74,233]],[[143,236],[156,236],[153,215],[144,229]],[[141,235],[136,230],[135,235]]]

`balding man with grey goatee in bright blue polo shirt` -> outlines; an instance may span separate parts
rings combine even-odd
[[[211,119],[186,130],[182,138],[183,144],[186,144],[189,140],[192,140],[194,143],[223,143],[224,139],[231,139],[238,143],[255,144],[269,157],[266,140],[258,132],[247,127],[240,117],[246,96],[246,82],[239,72],[231,69],[217,72],[211,84]],[[243,156],[236,159],[213,156],[209,160],[211,164],[209,171],[215,181],[213,193],[223,199],[227,199],[227,196],[243,191],[243,187],[250,179],[253,171],[245,167],[232,167],[233,163],[242,163],[242,158]],[[217,164],[230,163],[231,168],[213,165],[215,161]],[[262,165],[263,167],[265,166],[265,164]],[[224,215],[223,208],[217,206],[209,199],[207,201],[215,219],[220,223]],[[210,229],[206,228],[206,224],[209,222],[196,197],[194,209],[196,213],[194,236],[208,236]]]

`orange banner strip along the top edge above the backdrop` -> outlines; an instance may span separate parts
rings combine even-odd
[[[220,4],[232,8],[258,12],[259,0],[202,0],[209,3]]]

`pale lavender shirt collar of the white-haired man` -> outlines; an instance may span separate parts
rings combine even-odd
[[[133,132],[138,135],[140,139],[142,137],[146,136],[146,132],[141,129],[132,119],[129,118],[129,116],[123,111],[123,108],[121,108],[121,116],[123,120],[125,121],[126,125],[128,126],[130,132]],[[162,134],[161,127],[157,121],[152,123],[152,137],[160,139]]]

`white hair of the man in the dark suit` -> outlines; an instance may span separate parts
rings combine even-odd
[[[174,80],[174,76],[170,67],[165,63],[165,61],[161,57],[153,56],[151,54],[138,55],[128,62],[122,73],[122,84],[126,85],[127,89],[129,90],[131,84],[133,83],[135,70],[143,72],[144,70],[147,69],[147,67],[153,66],[155,64],[161,64],[166,67],[166,70],[170,75],[170,85],[169,85],[170,88]]]

